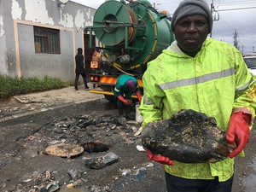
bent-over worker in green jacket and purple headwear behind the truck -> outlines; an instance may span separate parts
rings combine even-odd
[[[137,95],[138,101],[141,102],[142,96],[139,91],[139,87],[137,86],[137,79],[127,74],[120,75],[116,80],[115,88],[113,90],[113,94],[117,98],[119,117],[134,119],[131,116],[132,93],[135,93]]]

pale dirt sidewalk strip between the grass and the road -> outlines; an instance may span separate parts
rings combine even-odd
[[[54,108],[62,108],[73,103],[79,104],[104,98],[103,95],[84,90],[82,85],[79,86],[79,90],[66,87],[60,90],[12,96],[9,100],[0,102],[0,122]]]

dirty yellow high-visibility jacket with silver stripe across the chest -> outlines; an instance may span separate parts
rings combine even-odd
[[[233,109],[247,108],[254,117],[256,86],[238,49],[207,38],[195,57],[184,54],[177,42],[148,62],[143,74],[143,125],[169,119],[181,109],[193,109],[217,120],[227,130]],[[252,127],[252,125],[250,126]],[[184,178],[226,181],[234,173],[234,159],[186,164],[174,161],[166,172]]]

